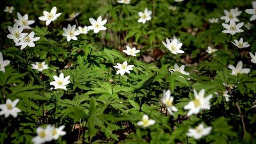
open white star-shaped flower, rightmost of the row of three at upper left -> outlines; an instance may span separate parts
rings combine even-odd
[[[93,18],[89,18],[89,21],[92,25],[88,26],[88,29],[93,30],[94,33],[98,33],[101,31],[106,30],[107,28],[104,27],[103,25],[107,23],[107,20],[101,21],[101,16],[98,17],[97,20],[94,20]]]

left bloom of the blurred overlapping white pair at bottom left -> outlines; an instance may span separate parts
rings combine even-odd
[[[47,125],[46,128],[41,128],[41,127],[36,128],[37,136],[35,136],[32,139],[32,142],[34,144],[44,144],[45,142],[51,141],[52,140],[51,131],[52,131],[51,125]]]

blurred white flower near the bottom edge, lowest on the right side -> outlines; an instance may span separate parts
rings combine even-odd
[[[199,124],[196,128],[189,128],[187,136],[194,137],[198,140],[203,136],[207,136],[212,131],[212,127],[205,127],[203,124]]]

